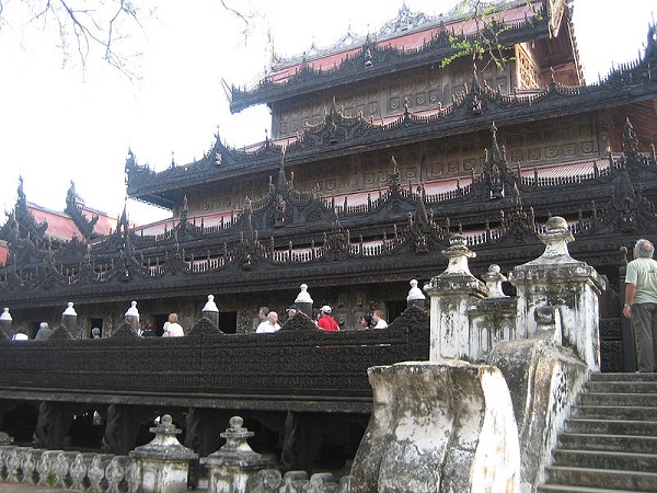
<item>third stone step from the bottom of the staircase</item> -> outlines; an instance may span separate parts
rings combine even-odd
[[[657,454],[656,436],[561,433],[557,442],[558,448],[566,450],[632,450],[635,454]]]

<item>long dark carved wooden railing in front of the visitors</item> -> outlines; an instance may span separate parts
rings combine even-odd
[[[287,325],[286,325],[287,326]],[[5,399],[369,412],[367,368],[428,357],[426,311],[388,330],[0,341]]]

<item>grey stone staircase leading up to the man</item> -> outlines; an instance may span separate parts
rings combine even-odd
[[[657,492],[657,374],[592,374],[539,492]]]

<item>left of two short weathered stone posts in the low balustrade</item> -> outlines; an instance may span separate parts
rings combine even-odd
[[[164,414],[158,426],[150,428],[155,437],[150,444],[130,451],[136,462],[137,481],[143,493],[182,493],[187,491],[189,460],[198,459],[175,437],[182,433]],[[214,490],[210,490],[214,491]]]

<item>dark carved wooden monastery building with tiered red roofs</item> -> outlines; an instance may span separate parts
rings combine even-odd
[[[486,36],[502,65],[460,56],[458,41]],[[639,59],[586,83],[565,0],[479,19],[404,7],[365,38],[277,60],[230,99],[232,112],[267,104],[270,138],[235,149],[217,135],[201,159],[161,172],[127,159],[128,195],[170,220],[105,217],[73,185],[64,214],[46,211],[21,183],[0,229],[0,306],[15,322],[34,336],[73,302],[80,336],[107,337],[136,300],[161,333],[170,312],[193,326],[214,295],[220,330],[246,334],[258,307],[283,313],[307,284],[356,330],[373,309],[402,313],[410,280],[445,270],[451,233],[476,252],[475,275],[508,272],[541,253],[553,215],[572,255],[608,277],[603,312],[618,318],[621,249],[657,240],[654,27]],[[606,336],[607,368],[619,334]]]

